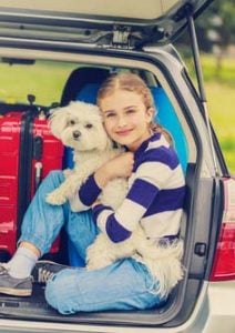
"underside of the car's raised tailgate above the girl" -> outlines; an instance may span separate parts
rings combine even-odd
[[[3,0],[0,29],[1,34],[17,33],[28,38],[38,34],[47,39],[57,36],[61,40],[67,36],[81,43],[140,48],[146,43],[172,41],[185,29],[187,16],[196,18],[210,2],[212,0],[147,0],[140,7],[134,0],[102,0],[99,6],[95,0],[70,0],[64,8],[63,1],[34,4],[32,1],[9,3]]]

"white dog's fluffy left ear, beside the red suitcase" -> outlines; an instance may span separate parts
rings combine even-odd
[[[61,139],[61,133],[67,127],[67,107],[50,110],[49,127],[52,134],[58,139]]]

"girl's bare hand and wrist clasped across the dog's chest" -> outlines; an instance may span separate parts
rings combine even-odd
[[[94,179],[103,189],[106,183],[115,178],[129,178],[134,167],[134,154],[132,152],[121,153],[98,169]]]

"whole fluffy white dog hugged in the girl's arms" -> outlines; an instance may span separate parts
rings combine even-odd
[[[83,182],[108,160],[122,152],[113,148],[96,105],[84,102],[70,102],[68,107],[55,109],[50,117],[50,128],[54,137],[64,145],[74,150],[74,169],[65,170],[65,181],[48,194],[47,202],[60,205],[70,201],[71,210],[84,210],[78,201],[78,191]],[[116,179],[103,189],[100,200],[114,210],[123,202],[127,192],[127,181]],[[86,208],[88,209],[88,208]],[[86,269],[102,269],[112,262],[134,256],[144,262],[153,276],[159,281],[156,293],[166,295],[183,278],[181,256],[182,242],[160,246],[146,239],[141,226],[123,242],[113,243],[104,233],[100,233],[86,252]]]

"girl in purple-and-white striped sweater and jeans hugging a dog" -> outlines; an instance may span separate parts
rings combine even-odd
[[[100,88],[98,104],[108,134],[127,151],[102,165],[81,188],[78,200],[91,206],[89,211],[73,213],[69,203],[48,204],[47,193],[63,181],[61,171],[49,174],[27,211],[16,254],[0,266],[0,292],[31,294],[30,274],[62,225],[83,259],[99,229],[113,242],[126,240],[139,223],[156,245],[164,246],[177,238],[185,182],[168,137],[153,124],[151,91],[135,74],[113,74]],[[116,176],[130,176],[130,190],[114,212],[96,199],[102,188]],[[165,300],[165,295],[157,293],[159,281],[135,258],[119,260],[96,271],[64,269],[53,263],[42,266],[49,275],[59,271],[47,283],[45,299],[62,314],[150,309]]]

